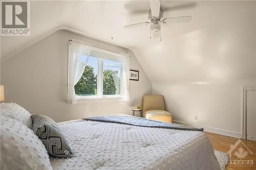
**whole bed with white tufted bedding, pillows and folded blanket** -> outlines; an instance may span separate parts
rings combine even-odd
[[[220,169],[202,129],[179,130],[184,127],[178,124],[144,127],[161,123],[127,115],[108,117],[116,123],[97,122],[96,117],[55,123],[15,103],[0,106],[4,170]],[[120,124],[121,116],[122,123],[141,122]]]

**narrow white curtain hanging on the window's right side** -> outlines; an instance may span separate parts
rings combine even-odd
[[[121,55],[121,63],[122,63],[122,95],[123,101],[130,101],[129,94],[129,79],[130,79],[130,56]]]

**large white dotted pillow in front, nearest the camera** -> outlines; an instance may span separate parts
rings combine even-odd
[[[41,140],[7,115],[1,115],[1,169],[52,169]]]

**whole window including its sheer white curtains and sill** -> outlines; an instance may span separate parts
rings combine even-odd
[[[130,57],[69,40],[69,104],[130,101]],[[85,99],[85,100],[84,100]],[[88,100],[92,99],[92,100]],[[98,99],[98,100],[96,100]]]

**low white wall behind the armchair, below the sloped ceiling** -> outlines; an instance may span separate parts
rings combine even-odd
[[[256,80],[209,84],[153,84],[154,94],[163,94],[166,110],[175,123],[204,127],[206,131],[241,137],[242,86]],[[198,119],[194,120],[197,115]]]

